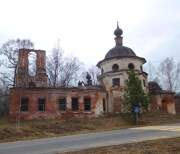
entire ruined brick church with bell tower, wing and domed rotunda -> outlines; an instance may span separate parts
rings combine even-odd
[[[98,62],[100,86],[91,84],[70,88],[48,87],[44,50],[20,49],[16,84],[10,90],[11,119],[53,119],[64,116],[97,117],[104,113],[123,112],[123,95],[129,69],[137,72],[145,92],[151,93],[153,110],[163,109],[175,114],[174,93],[163,91],[156,83],[148,83],[143,71],[146,60],[131,48],[123,46],[123,31],[114,31],[115,47]],[[28,55],[36,54],[36,73],[28,72]]]

